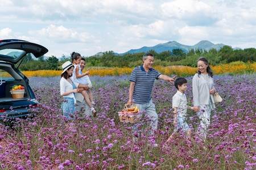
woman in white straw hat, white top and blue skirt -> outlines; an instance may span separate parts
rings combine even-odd
[[[71,79],[74,66],[70,61],[65,62],[62,65],[63,72],[61,73],[60,79],[60,95],[64,97],[64,101],[61,105],[63,110],[63,116],[67,117],[68,119],[73,119],[76,103],[75,93],[79,92],[79,88],[88,89],[88,85],[79,84],[73,82]]]

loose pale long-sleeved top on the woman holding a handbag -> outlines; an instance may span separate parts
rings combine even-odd
[[[210,95],[210,90],[209,87],[207,85],[207,82],[205,81],[205,79],[203,78],[202,75],[199,75],[198,73],[196,73],[193,76],[193,80],[192,80],[192,89],[193,89],[193,105],[194,106],[199,106],[202,104],[210,104],[209,99],[211,98],[213,103],[213,96]],[[214,89],[214,81],[213,78],[210,77],[210,89]]]

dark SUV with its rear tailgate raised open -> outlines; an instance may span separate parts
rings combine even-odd
[[[31,108],[37,109],[38,101],[28,85],[28,78],[18,67],[28,53],[38,58],[47,52],[47,48],[32,42],[0,40],[0,119],[27,116],[32,114]],[[25,93],[22,98],[14,99],[11,95],[14,85],[23,86]]]

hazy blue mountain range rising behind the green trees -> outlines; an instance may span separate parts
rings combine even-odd
[[[139,49],[131,49],[129,50],[128,52],[125,52],[125,53],[115,53],[116,55],[123,55],[123,54],[126,54],[126,53],[146,53],[148,52],[149,50],[155,50],[155,52],[157,53],[162,53],[164,51],[168,51],[170,50],[170,52],[173,50],[173,49],[181,49],[183,50],[184,52],[188,52],[189,50],[191,49],[202,49],[202,50],[210,50],[210,49],[217,49],[217,50],[220,50],[221,47],[224,46],[224,44],[213,44],[212,42],[210,41],[207,41],[207,40],[204,40],[204,41],[200,41],[198,42],[197,44],[195,45],[183,45],[183,44],[180,44],[179,42],[176,42],[176,41],[170,41],[170,42],[166,42],[164,44],[158,44],[158,45],[155,45],[155,46],[143,46],[142,48],[139,48]]]

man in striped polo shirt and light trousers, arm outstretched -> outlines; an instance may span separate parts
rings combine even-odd
[[[155,82],[155,79],[162,79],[171,83],[174,83],[174,78],[170,78],[167,75],[159,73],[158,70],[152,69],[154,64],[154,55],[146,53],[143,55],[143,65],[135,67],[130,76],[130,90],[128,104],[135,103],[140,111],[146,111],[148,116],[151,117],[151,135],[154,134],[154,130],[158,129],[158,114],[155,111],[155,104],[152,103],[151,93]],[[134,124],[133,131],[138,135],[138,123]],[[137,138],[137,135],[135,135]]]

